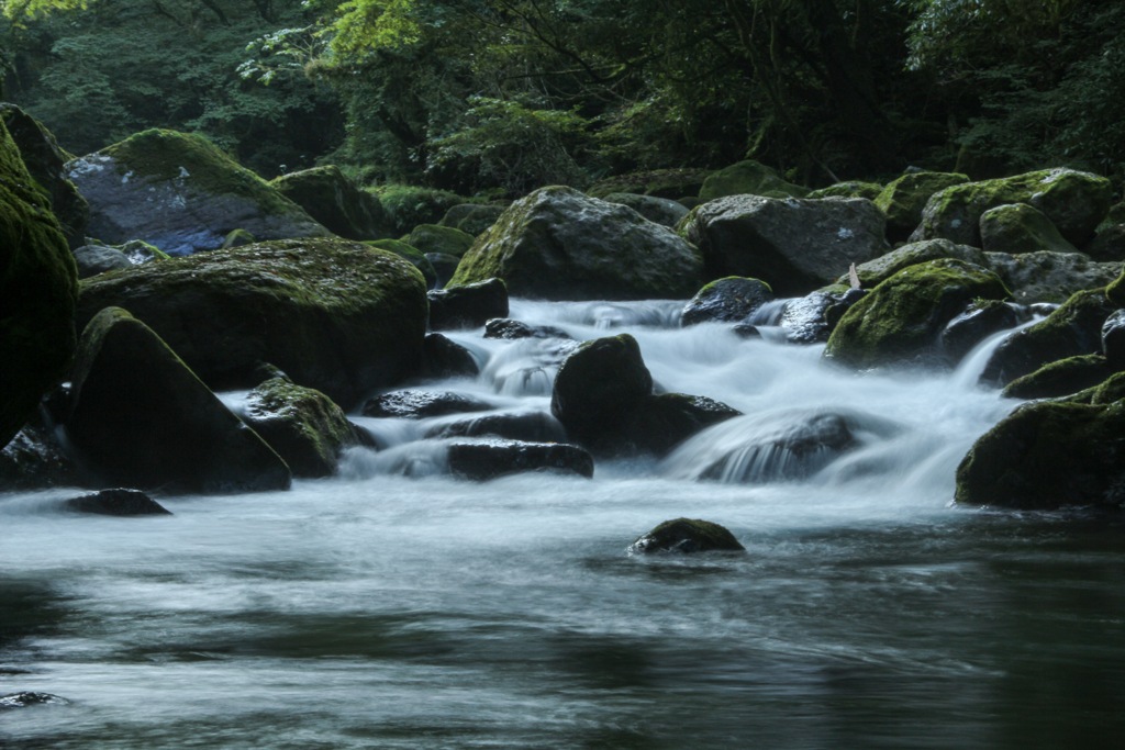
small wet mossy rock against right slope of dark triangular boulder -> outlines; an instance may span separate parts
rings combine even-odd
[[[336,472],[340,453],[360,444],[332,399],[286,378],[271,378],[251,390],[242,417],[295,477],[330,477]]]

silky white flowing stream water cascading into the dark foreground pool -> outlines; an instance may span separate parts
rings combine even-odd
[[[1015,406],[981,356],[861,377],[678,307],[513,301],[746,415],[593,480],[454,479],[423,440],[450,417],[358,418],[382,450],[288,493],[124,519],[0,495],[0,695],[69,702],[0,708],[0,747],[1120,747],[1119,524],[950,505]],[[482,376],[422,387],[549,408],[557,340],[452,337]],[[824,419],[846,450],[777,449]],[[678,516],[747,553],[626,554]]]

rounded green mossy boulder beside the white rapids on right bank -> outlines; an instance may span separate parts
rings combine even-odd
[[[974,299],[1005,299],[990,271],[945,259],[899,271],[852,306],[828,338],[825,356],[849,368],[950,364],[939,344],[946,324]]]

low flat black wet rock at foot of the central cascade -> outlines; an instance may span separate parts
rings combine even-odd
[[[484,481],[523,471],[559,471],[594,476],[594,459],[577,445],[515,440],[454,442],[449,468],[466,479]]]

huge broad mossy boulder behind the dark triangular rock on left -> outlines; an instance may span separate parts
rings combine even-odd
[[[422,274],[348,240],[282,240],[104,273],[82,283],[79,322],[117,305],[214,388],[271,362],[345,409],[417,374]]]

